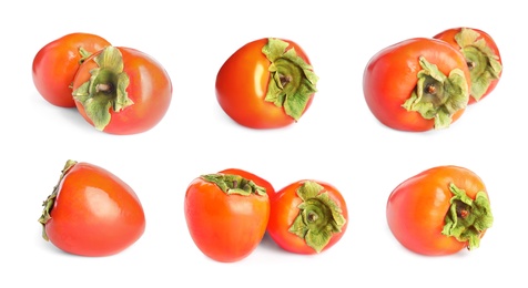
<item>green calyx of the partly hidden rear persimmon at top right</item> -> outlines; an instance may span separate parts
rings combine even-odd
[[[460,29],[455,35],[469,68],[471,96],[476,101],[480,100],[494,80],[499,79],[502,71],[499,56],[479,37],[480,33],[469,28]]]

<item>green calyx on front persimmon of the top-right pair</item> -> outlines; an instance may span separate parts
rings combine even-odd
[[[419,58],[419,64],[416,88],[403,107],[420,113],[424,119],[434,119],[436,130],[448,127],[453,114],[465,109],[469,101],[464,71],[454,69],[445,75],[424,56]]]

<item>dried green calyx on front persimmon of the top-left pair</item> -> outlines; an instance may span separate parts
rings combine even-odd
[[[110,110],[120,112],[134,102],[126,93],[129,75],[123,71],[119,49],[106,47],[93,61],[98,68],[90,71],[90,80],[74,90],[72,95],[82,104],[94,127],[103,131],[111,120]]]

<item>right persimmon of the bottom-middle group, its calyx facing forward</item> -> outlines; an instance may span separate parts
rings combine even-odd
[[[343,237],[347,226],[345,198],[328,183],[297,181],[271,199],[267,234],[284,250],[322,253]]]

